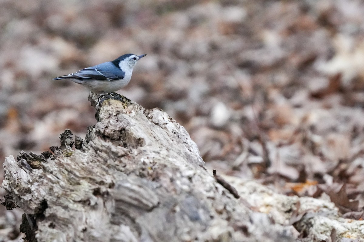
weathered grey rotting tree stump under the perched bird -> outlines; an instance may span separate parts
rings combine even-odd
[[[5,160],[3,204],[24,210],[26,240],[293,241],[286,227],[252,219],[165,112],[90,101],[98,122],[84,140],[66,130],[53,153]]]

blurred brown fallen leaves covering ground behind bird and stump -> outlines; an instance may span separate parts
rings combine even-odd
[[[84,137],[88,91],[52,78],[125,53],[148,56],[118,92],[185,126],[207,168],[363,219],[362,1],[1,0],[0,161]]]

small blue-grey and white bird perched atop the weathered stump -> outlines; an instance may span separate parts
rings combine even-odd
[[[108,98],[120,100],[118,95],[111,93],[129,84],[133,68],[146,55],[124,54],[113,61],[90,66],[75,73],[53,78],[53,80],[70,79],[87,87],[93,93],[103,94],[100,97],[107,98],[100,101],[99,97],[100,103]]]

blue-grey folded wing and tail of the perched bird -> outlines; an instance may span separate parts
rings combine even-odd
[[[65,78],[94,79],[101,81],[123,79],[125,76],[125,72],[118,69],[112,63],[110,64],[109,63],[110,62],[105,62],[96,66],[87,67],[75,73],[54,78],[54,80],[65,79]]]

